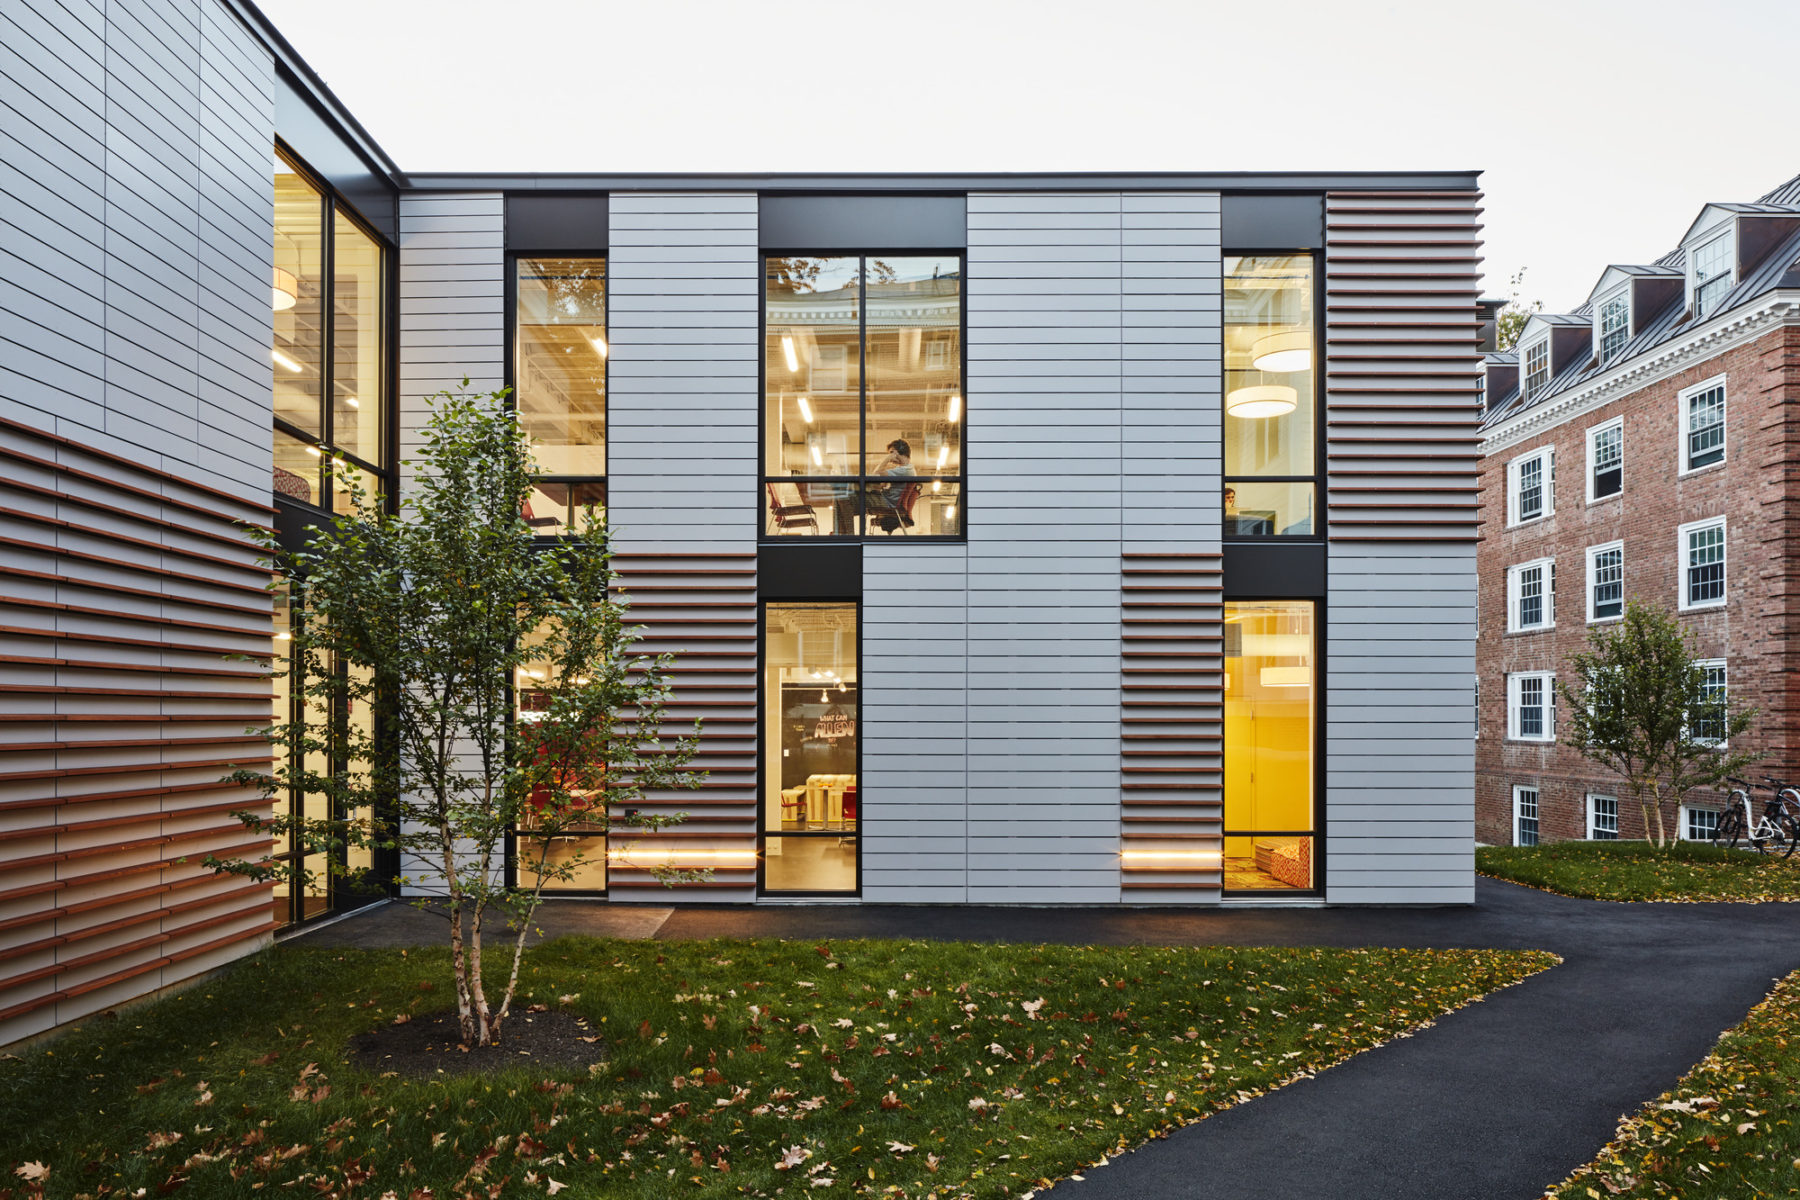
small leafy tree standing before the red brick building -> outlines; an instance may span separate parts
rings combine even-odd
[[[1570,664],[1575,682],[1559,685],[1568,709],[1562,743],[1624,779],[1660,849],[1674,844],[1688,792],[1717,788],[1757,761],[1726,748],[1757,711],[1710,693],[1692,639],[1660,608],[1627,601],[1624,621],[1591,630],[1588,649]]]

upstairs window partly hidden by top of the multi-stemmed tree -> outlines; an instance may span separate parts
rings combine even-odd
[[[544,479],[526,520],[562,533],[607,504],[607,261],[522,257],[513,389]]]

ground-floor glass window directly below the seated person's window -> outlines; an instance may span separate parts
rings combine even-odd
[[[855,892],[857,604],[763,606],[763,891]]]

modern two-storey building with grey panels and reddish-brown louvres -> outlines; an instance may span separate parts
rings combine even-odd
[[[0,1040],[364,900],[198,865],[304,621],[239,522],[464,378],[706,718],[574,891],[1472,900],[1472,173],[407,175],[248,4],[90,16],[0,40]]]

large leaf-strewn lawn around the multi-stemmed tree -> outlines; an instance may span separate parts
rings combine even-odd
[[[445,954],[281,946],[0,1061],[0,1196],[1017,1196],[1555,961],[562,939],[522,988],[608,1061],[409,1081],[344,1045]]]

